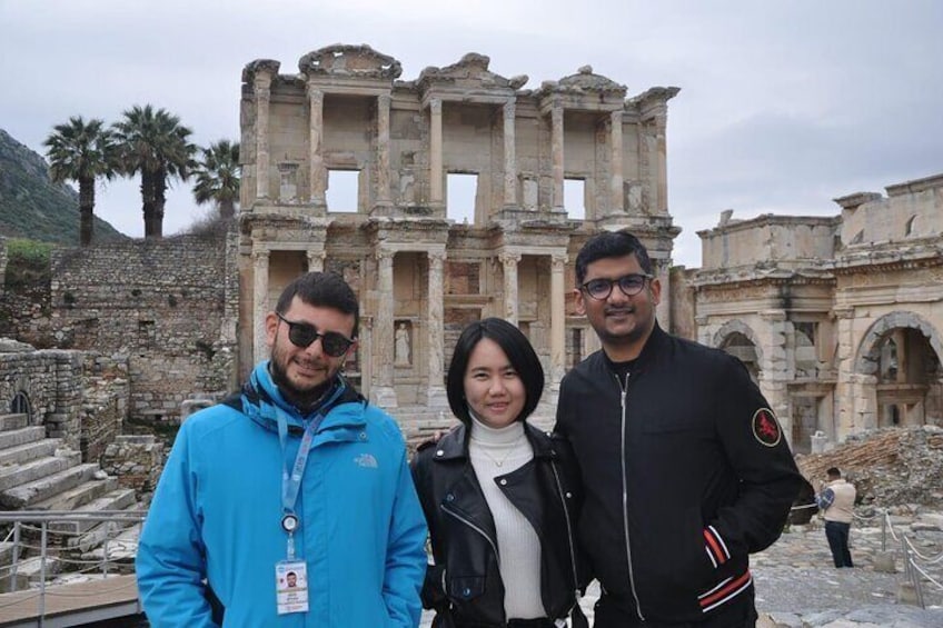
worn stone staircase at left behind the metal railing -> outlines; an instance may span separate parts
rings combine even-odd
[[[83,511],[143,509],[135,490],[121,488],[97,463],[83,463],[81,453],[61,447],[61,439],[46,438],[46,428],[29,426],[26,415],[0,415],[0,509],[29,511]],[[28,526],[28,527],[27,527]],[[17,588],[29,586],[38,569],[38,524],[24,524]],[[53,521],[48,527],[47,574],[68,560],[101,560],[107,538],[123,534],[128,522],[93,520]],[[2,530],[6,536],[7,530]],[[0,537],[1,538],[1,537]],[[109,552],[109,559],[111,559]],[[58,564],[57,564],[58,562]],[[0,542],[0,589],[11,585],[12,542]]]

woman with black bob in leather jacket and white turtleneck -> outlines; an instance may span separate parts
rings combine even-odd
[[[435,628],[587,626],[575,542],[580,502],[572,450],[526,422],[544,389],[527,338],[488,318],[468,326],[448,370],[461,425],[419,448],[413,477],[435,562],[423,604]]]

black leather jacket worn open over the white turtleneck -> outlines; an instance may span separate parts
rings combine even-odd
[[[547,616],[566,617],[584,581],[575,542],[580,484],[568,443],[524,423],[534,459],[496,478],[540,539],[540,589]],[[429,525],[435,565],[423,586],[434,626],[505,626],[504,584],[492,512],[458,426],[413,459],[413,479]],[[506,482],[505,482],[506,480]]]

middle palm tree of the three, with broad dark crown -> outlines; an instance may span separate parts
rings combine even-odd
[[[167,203],[167,179],[183,181],[190,175],[197,147],[188,141],[192,131],[180,124],[180,118],[166,109],[135,106],[116,122],[115,136],[126,176],[141,175],[141,209],[145,238],[160,238],[163,232],[163,207]]]

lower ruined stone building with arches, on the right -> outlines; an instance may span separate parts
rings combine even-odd
[[[886,192],[698,232],[697,339],[747,363],[798,451],[943,425],[943,175]]]

